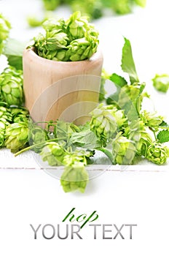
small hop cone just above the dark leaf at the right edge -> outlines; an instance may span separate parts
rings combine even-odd
[[[141,118],[147,127],[158,128],[162,124],[163,116],[157,116],[157,113],[149,113],[146,110],[141,114]]]

